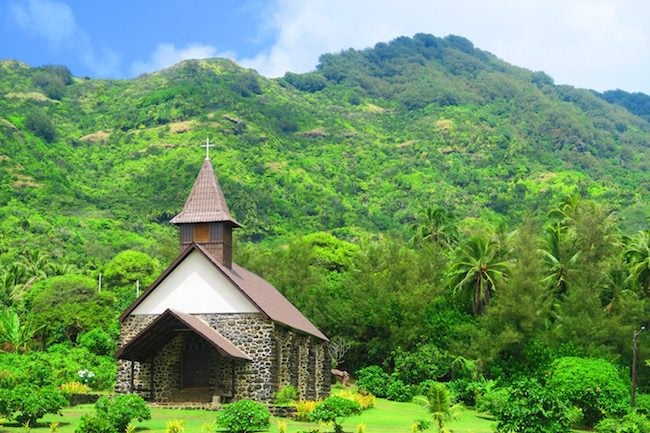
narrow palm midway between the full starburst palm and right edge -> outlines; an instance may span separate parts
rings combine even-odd
[[[553,289],[557,295],[563,295],[567,291],[567,275],[576,267],[580,251],[571,254],[566,252],[562,245],[562,238],[565,230],[560,222],[546,227],[545,248],[541,250],[546,267],[544,281]]]

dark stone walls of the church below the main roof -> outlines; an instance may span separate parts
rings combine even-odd
[[[132,315],[123,323],[120,345],[151,323],[155,315]],[[327,343],[274,323],[259,313],[198,315],[241,349],[252,361],[224,357],[215,350],[210,385],[222,401],[250,398],[270,403],[275,393],[293,385],[300,399],[329,395]],[[182,371],[182,336],[163,346],[152,361],[133,363],[133,391],[156,402],[174,401]],[[153,368],[153,375],[152,369]],[[152,383],[153,376],[153,383]],[[118,360],[117,392],[131,392],[131,362]]]

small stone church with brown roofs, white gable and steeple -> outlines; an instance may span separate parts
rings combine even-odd
[[[232,261],[228,210],[206,157],[183,210],[180,255],[120,316],[117,392],[158,403],[329,394],[327,337],[277,289]]]

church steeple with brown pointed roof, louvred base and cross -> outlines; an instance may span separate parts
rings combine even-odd
[[[241,227],[232,216],[207,154],[183,210],[171,219],[180,227],[181,251],[192,243],[205,247],[214,258],[232,266],[232,230]]]

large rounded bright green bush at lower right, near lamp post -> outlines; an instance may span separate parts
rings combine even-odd
[[[551,366],[547,386],[582,409],[586,426],[622,416],[629,407],[627,384],[616,367],[603,359],[560,358]]]

